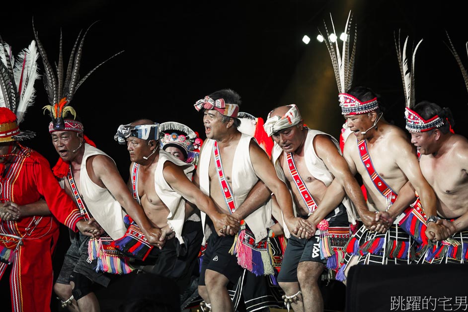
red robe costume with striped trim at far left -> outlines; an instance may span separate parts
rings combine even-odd
[[[52,174],[49,162],[29,148],[18,145],[18,149],[15,161],[0,167],[0,199],[26,205],[44,198],[53,216],[1,220],[0,256],[3,255],[3,259],[0,260],[12,265],[12,311],[50,311],[52,253],[59,235],[58,221],[77,232],[78,221],[84,219]],[[22,243],[18,245],[17,238],[5,234],[22,237]],[[9,257],[5,257],[8,254]],[[8,265],[4,262],[0,263],[0,278]]]

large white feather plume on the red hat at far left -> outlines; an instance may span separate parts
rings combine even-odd
[[[34,81],[39,78],[37,71],[38,57],[39,53],[36,48],[36,42],[33,40],[29,47],[23,49],[18,54],[17,60],[14,64],[14,79],[16,86],[18,87],[18,91],[20,92],[19,103],[16,109],[18,124],[23,121],[26,110],[34,101]]]

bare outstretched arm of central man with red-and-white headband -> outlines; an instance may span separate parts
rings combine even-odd
[[[297,235],[299,230],[306,229],[306,238],[312,237],[314,229],[312,224],[302,218],[296,218],[293,211],[293,199],[286,184],[276,175],[276,170],[265,152],[255,143],[249,146],[250,159],[258,178],[275,194],[278,205],[290,233]]]

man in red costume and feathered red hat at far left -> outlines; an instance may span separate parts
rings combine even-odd
[[[83,235],[98,235],[99,230],[80,215],[49,162],[19,144],[35,135],[18,127],[34,97],[35,42],[20,53],[16,63],[1,38],[0,44],[0,278],[11,264],[13,312],[50,311],[57,220]]]

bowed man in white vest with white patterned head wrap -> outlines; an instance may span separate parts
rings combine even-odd
[[[325,197],[328,186],[337,184],[338,189],[341,189],[343,185],[355,203],[361,208],[366,205],[359,184],[349,171],[346,160],[340,155],[338,142],[323,132],[306,128],[299,109],[294,104],[271,111],[265,130],[275,141],[272,161],[278,176],[286,182],[293,195],[296,214],[308,219],[315,227],[326,220],[329,225],[328,233],[340,231],[343,238],[340,243],[331,247],[342,250],[350,236],[350,222],[356,223],[356,214],[348,198],[344,197],[345,194]],[[293,177],[294,171],[299,177]],[[301,187],[301,180],[304,188]],[[314,204],[318,205],[318,209],[315,210]],[[323,311],[318,278],[325,269],[327,259],[320,257],[319,237],[317,232],[311,239],[291,236],[288,240],[278,282],[286,296],[302,298],[288,301],[296,312]],[[336,256],[333,256],[337,263]],[[336,270],[338,268],[339,263],[330,267]]]

